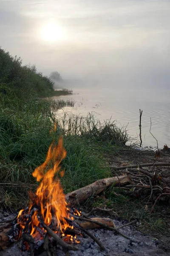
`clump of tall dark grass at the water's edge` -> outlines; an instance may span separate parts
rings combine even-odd
[[[101,122],[93,112],[88,113],[85,117],[64,113],[58,118],[57,124],[66,135],[77,135],[102,143],[126,145],[131,140],[127,133],[127,126],[119,128],[115,121],[111,121],[111,119]]]

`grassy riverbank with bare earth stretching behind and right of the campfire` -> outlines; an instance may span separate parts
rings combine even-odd
[[[7,99],[6,99],[7,102]],[[34,169],[45,160],[52,141],[63,136],[67,156],[61,163],[65,175],[61,183],[65,193],[86,186],[96,180],[125,174],[114,171],[112,166],[136,163],[153,163],[154,151],[139,151],[126,144],[130,137],[125,128],[114,123],[100,123],[89,113],[86,118],[65,114],[57,119],[56,102],[50,100],[11,101],[0,112],[0,207],[12,211],[28,205],[28,191],[36,191],[37,181],[32,177]],[[8,106],[8,108],[7,108]],[[23,107],[24,106],[24,107]],[[57,106],[57,107],[56,107]],[[53,131],[54,123],[57,130]],[[53,132],[51,132],[53,131]],[[133,145],[133,141],[131,142]],[[169,162],[169,151],[161,152],[158,162]],[[148,167],[150,172],[169,173],[169,167]],[[131,191],[131,190],[130,190]],[[133,190],[132,190],[133,192]],[[85,208],[113,208],[120,218],[137,219],[142,232],[170,234],[170,204],[158,202],[155,211],[148,210],[143,198],[125,193],[124,189],[107,189],[104,194],[91,198]],[[17,209],[16,209],[17,205]]]

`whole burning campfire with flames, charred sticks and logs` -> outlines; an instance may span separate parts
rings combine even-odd
[[[0,232],[4,230],[0,233],[0,250],[11,242],[18,241],[20,250],[30,251],[31,256],[44,250],[47,255],[55,255],[57,247],[62,247],[64,251],[78,250],[75,244],[80,243],[82,236],[90,236],[101,250],[105,250],[102,243],[89,233],[88,229],[94,228],[106,228],[129,239],[119,228],[116,229],[110,218],[89,218],[91,213],[82,214],[74,207],[92,195],[98,195],[113,183],[129,183],[130,178],[125,175],[104,178],[65,195],[60,183],[60,177],[64,175],[60,163],[65,157],[66,151],[60,137],[58,145],[54,141],[51,143],[45,162],[32,174],[40,182],[40,186],[36,193],[29,192],[29,207],[21,209],[14,220],[0,226]],[[98,207],[96,210],[111,211]],[[6,230],[11,226],[10,230]]]

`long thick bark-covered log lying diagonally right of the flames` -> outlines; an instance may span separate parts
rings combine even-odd
[[[88,200],[88,198],[91,198],[94,195],[98,195],[107,187],[113,184],[114,186],[118,186],[119,184],[123,185],[126,183],[133,183],[128,175],[105,178],[102,180],[97,180],[88,186],[82,187],[81,189],[70,192],[65,196],[65,198],[69,207],[75,207],[81,202]]]

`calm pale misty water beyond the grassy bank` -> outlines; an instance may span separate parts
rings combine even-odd
[[[156,140],[151,136],[150,117],[152,120],[151,132],[159,143],[170,147],[170,90],[133,90],[133,89],[73,89],[74,94],[62,96],[65,99],[76,101],[74,108],[64,108],[59,111],[81,113],[96,112],[96,118],[116,120],[118,126],[127,125],[132,137],[139,136],[139,109],[142,113],[142,141],[143,145],[156,146]]]

